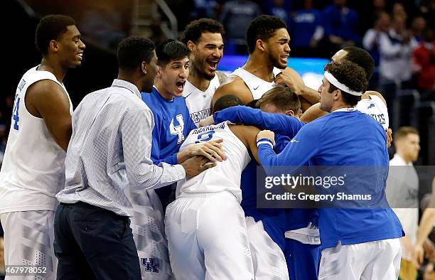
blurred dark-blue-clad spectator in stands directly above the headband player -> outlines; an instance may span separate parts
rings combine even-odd
[[[347,0],[334,0],[323,10],[325,47],[335,53],[347,45],[355,45],[358,36],[358,13],[347,6]]]

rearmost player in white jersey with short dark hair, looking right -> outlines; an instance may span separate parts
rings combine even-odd
[[[237,94],[243,104],[262,97],[277,80],[275,77],[285,72],[304,84],[301,76],[291,68],[286,68],[290,53],[290,36],[284,21],[276,16],[258,16],[247,29],[247,47],[249,57],[242,68],[231,74],[231,80],[216,90],[213,104],[224,95]],[[299,94],[299,92],[296,92]],[[318,102],[316,92],[302,95],[310,104]]]

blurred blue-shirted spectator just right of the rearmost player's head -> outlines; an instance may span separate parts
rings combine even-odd
[[[291,33],[291,55],[312,57],[316,41],[313,40],[316,27],[320,24],[320,13],[313,9],[313,0],[304,0],[304,7],[291,16],[289,31]]]

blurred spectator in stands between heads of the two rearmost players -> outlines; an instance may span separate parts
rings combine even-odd
[[[247,27],[260,14],[262,11],[258,4],[249,0],[234,0],[225,4],[219,18],[226,32],[225,53],[247,54]]]

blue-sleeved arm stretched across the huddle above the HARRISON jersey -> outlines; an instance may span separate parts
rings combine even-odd
[[[279,134],[293,137],[305,124],[295,117],[284,114],[271,114],[245,106],[235,106],[215,112],[213,114],[215,124],[230,121],[235,124],[254,125],[261,129],[269,129]]]

